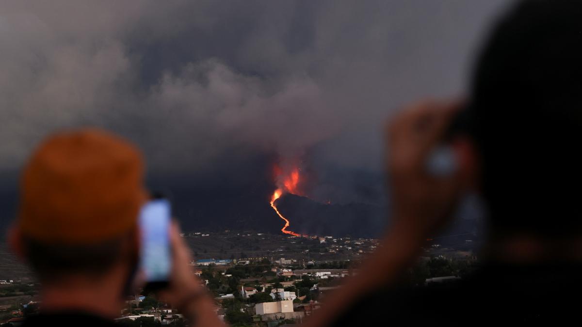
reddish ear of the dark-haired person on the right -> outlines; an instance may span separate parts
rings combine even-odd
[[[466,136],[459,136],[451,143],[459,163],[460,178],[465,190],[478,191],[480,189],[480,158],[473,141]]]

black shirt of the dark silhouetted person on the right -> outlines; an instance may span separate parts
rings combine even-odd
[[[556,325],[577,321],[582,304],[580,276],[580,264],[487,264],[455,282],[378,289],[359,298],[331,325]]]

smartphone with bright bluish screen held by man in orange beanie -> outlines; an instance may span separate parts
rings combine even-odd
[[[140,269],[145,278],[145,289],[157,290],[168,286],[172,268],[169,227],[170,202],[154,198],[140,211],[141,230]]]

